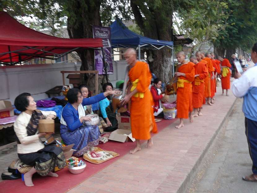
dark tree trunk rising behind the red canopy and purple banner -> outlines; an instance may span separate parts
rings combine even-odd
[[[68,24],[67,29],[70,38],[92,38],[92,25],[101,26],[100,18],[101,0],[88,1],[69,1],[67,6]],[[81,70],[94,70],[94,50],[81,49],[77,50],[81,58]],[[104,76],[98,76],[98,92],[102,89],[101,83]],[[89,87],[89,90],[95,91],[95,76],[93,74],[85,74],[83,83]]]

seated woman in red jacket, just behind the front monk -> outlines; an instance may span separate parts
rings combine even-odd
[[[163,117],[163,108],[161,107],[161,99],[165,94],[161,94],[160,88],[162,87],[162,81],[159,78],[155,78],[153,85],[151,86],[151,93],[154,99],[154,116]]]

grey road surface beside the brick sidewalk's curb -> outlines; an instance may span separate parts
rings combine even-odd
[[[245,182],[251,174],[251,159],[245,136],[242,99],[237,99],[199,172],[186,193],[257,192],[257,184]]]

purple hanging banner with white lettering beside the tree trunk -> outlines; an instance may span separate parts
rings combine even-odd
[[[98,74],[113,74],[112,60],[111,60],[111,28],[93,26],[93,38],[102,38],[103,54],[106,64],[106,72],[103,63],[102,50],[94,51],[95,70]]]

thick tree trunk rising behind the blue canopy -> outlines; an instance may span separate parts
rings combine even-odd
[[[157,40],[172,40],[173,10],[171,4],[172,1],[162,0],[161,5],[156,7],[150,2],[146,6],[140,1],[130,1],[135,21],[144,36]],[[172,78],[172,50],[162,48],[161,50],[146,50],[146,52],[148,56],[151,53],[154,59],[152,62],[148,61],[151,72],[161,81],[168,82]]]

